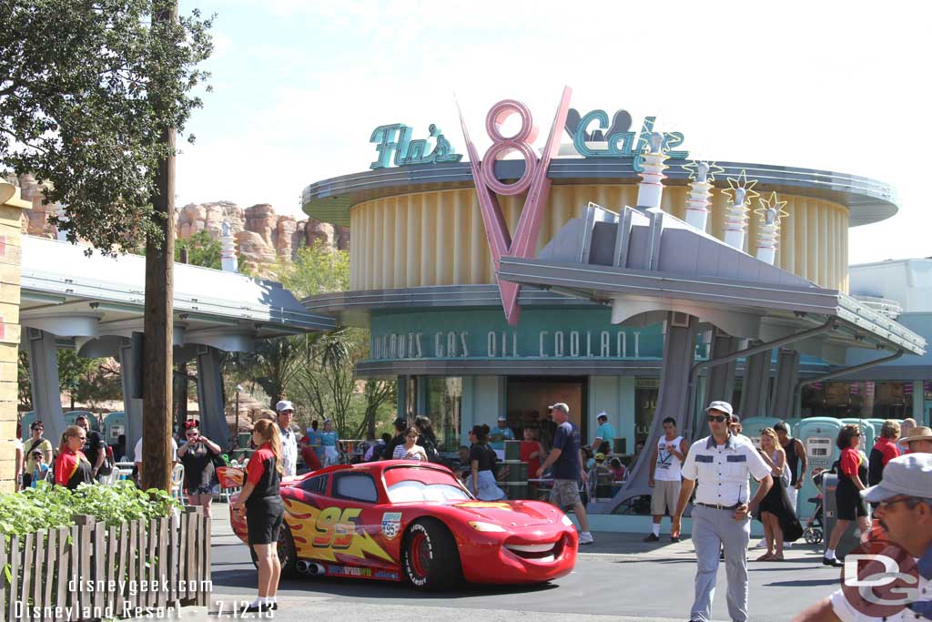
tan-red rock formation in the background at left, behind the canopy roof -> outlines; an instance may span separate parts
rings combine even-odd
[[[22,230],[29,235],[54,238],[56,229],[48,224],[48,216],[58,209],[44,205],[41,188],[32,175],[18,180],[22,198],[33,201],[33,209],[22,215]],[[219,239],[224,221],[236,237],[240,270],[254,274],[266,272],[264,268],[279,258],[291,261],[303,248],[317,242],[339,250],[349,250],[349,228],[335,227],[313,218],[297,220],[295,216],[275,214],[268,203],[259,203],[245,209],[229,200],[209,203],[188,203],[175,210],[175,235],[186,240],[200,231],[207,231]]]

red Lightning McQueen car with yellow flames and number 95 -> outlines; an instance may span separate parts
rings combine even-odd
[[[284,575],[407,580],[443,589],[463,579],[541,583],[569,574],[576,563],[576,530],[559,509],[538,501],[478,501],[437,464],[330,466],[282,483],[281,499]],[[247,542],[245,518],[231,512],[230,520]]]

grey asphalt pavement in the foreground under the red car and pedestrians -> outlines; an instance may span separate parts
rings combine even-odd
[[[249,551],[229,527],[227,508],[214,505],[212,521],[213,596],[208,619],[234,619],[237,601],[255,596],[256,574]],[[666,526],[666,524],[665,524]],[[689,619],[695,556],[692,543],[641,542],[643,534],[596,532],[584,546],[572,574],[541,586],[466,586],[452,592],[421,593],[403,584],[350,578],[299,577],[284,580],[279,609],[271,619],[329,620],[613,619],[668,622]],[[750,560],[763,551],[748,551]],[[749,619],[787,622],[809,604],[839,587],[839,570],[821,564],[821,549],[793,546],[786,561],[750,561]],[[724,564],[719,569],[712,615],[728,620]],[[271,614],[237,619],[270,619]]]

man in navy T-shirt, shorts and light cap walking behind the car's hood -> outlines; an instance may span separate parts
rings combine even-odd
[[[583,484],[586,482],[583,452],[580,451],[580,431],[569,421],[569,406],[559,402],[550,410],[556,423],[554,449],[550,450],[547,460],[537,470],[537,477],[541,477],[551,466],[554,467],[554,488],[550,491],[550,503],[561,509],[572,505],[580,522],[580,544],[591,545],[592,533],[589,532],[583,500],[580,499],[580,479]]]

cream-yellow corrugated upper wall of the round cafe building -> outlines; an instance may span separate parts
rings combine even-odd
[[[667,187],[661,207],[684,218],[686,187]],[[788,201],[776,263],[818,285],[848,289],[848,210],[841,204],[796,195]],[[500,197],[511,230],[525,197]],[[594,201],[613,211],[637,200],[637,186],[554,186],[546,208],[538,250],[570,218]],[[721,238],[728,197],[712,196],[708,233]],[[754,205],[757,208],[758,205]],[[349,213],[350,288],[398,289],[422,285],[494,283],[492,259],[479,203],[472,188],[418,192],[368,200]],[[758,217],[750,213],[745,251],[757,246]]]

